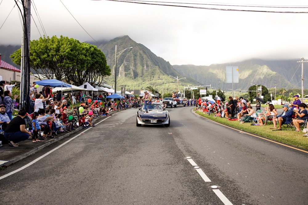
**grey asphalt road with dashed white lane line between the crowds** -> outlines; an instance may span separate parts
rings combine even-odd
[[[167,108],[166,128],[136,127],[137,109],[104,118],[0,171],[0,203],[308,203],[307,152],[192,109]]]

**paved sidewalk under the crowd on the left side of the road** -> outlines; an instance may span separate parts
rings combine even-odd
[[[116,111],[118,112],[118,111]],[[112,112],[111,114],[114,114],[116,112]],[[106,116],[99,116],[96,119],[93,119],[93,122],[97,120],[101,120],[105,118]],[[27,156],[30,156],[43,148],[62,140],[63,138],[70,136],[72,134],[76,134],[80,130],[82,130],[82,127],[75,128],[76,130],[72,130],[72,132],[66,132],[62,134],[58,134],[58,136],[55,136],[55,138],[48,138],[48,140],[41,140],[42,142],[33,143],[32,138],[28,140],[24,140],[19,142],[18,147],[12,147],[9,144],[2,144],[2,147],[0,147],[0,167],[8,166],[10,164],[13,164],[21,159],[26,158]]]

